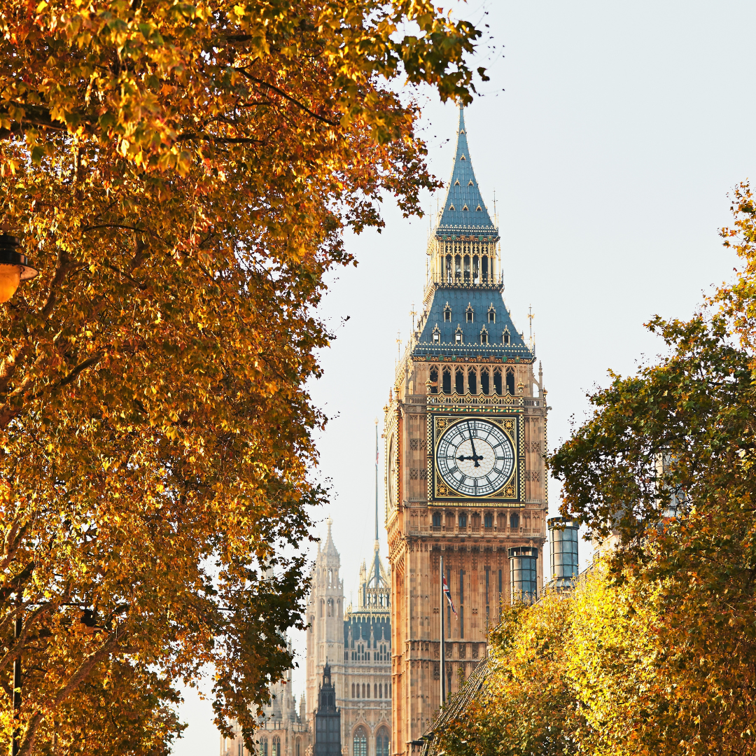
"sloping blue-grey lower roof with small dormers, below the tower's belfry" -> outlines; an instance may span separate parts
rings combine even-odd
[[[445,321],[444,310],[451,308],[451,321]],[[488,309],[494,305],[496,322],[488,322]],[[467,308],[473,312],[472,323],[466,321]],[[433,342],[433,331],[438,327],[440,340]],[[480,342],[482,328],[488,331],[488,344]],[[454,342],[457,328],[462,331],[462,343]],[[510,343],[503,343],[503,333],[510,334]],[[470,286],[436,284],[428,317],[412,351],[415,356],[433,355],[485,355],[497,358],[520,358],[531,362],[534,354],[517,332],[504,305],[501,288],[496,286]]]

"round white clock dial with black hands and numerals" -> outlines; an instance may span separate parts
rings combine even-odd
[[[435,462],[442,481],[457,493],[491,496],[510,479],[515,450],[495,423],[468,418],[443,432]]]

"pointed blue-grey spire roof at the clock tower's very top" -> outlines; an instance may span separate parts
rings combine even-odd
[[[472,170],[472,160],[467,146],[465,113],[460,107],[460,125],[457,130],[457,152],[451,172],[441,221],[435,230],[436,236],[455,234],[478,234],[498,236],[498,231],[483,202],[482,194]]]

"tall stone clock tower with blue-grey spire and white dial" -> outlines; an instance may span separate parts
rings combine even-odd
[[[427,253],[423,312],[385,408],[392,754],[419,753],[442,675],[456,692],[501,603],[534,600],[544,577],[546,392],[503,299],[499,233],[462,109]],[[442,559],[456,615],[441,602]]]

